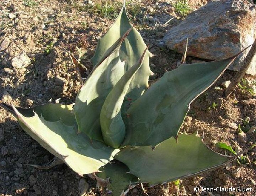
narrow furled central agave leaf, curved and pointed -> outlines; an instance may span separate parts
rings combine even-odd
[[[148,50],[148,48],[146,48],[146,50]],[[124,140],[126,127],[121,116],[121,108],[130,82],[142,65],[146,50],[139,61],[116,83],[102,106],[100,124],[103,140],[107,145],[113,148],[118,148]]]

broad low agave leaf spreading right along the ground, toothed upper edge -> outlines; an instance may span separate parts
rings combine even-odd
[[[214,152],[195,134],[170,138],[151,146],[126,147],[114,157],[126,164],[140,182],[151,185],[187,178],[222,166],[232,158]]]

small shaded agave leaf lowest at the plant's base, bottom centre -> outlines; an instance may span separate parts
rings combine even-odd
[[[100,168],[96,175],[102,179],[108,179],[107,189],[113,196],[120,196],[123,190],[129,189],[130,183],[136,183],[138,178],[129,174],[129,168],[123,163],[108,163]]]

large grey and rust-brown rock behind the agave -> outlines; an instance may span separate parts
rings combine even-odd
[[[183,53],[187,38],[188,56],[209,60],[234,56],[256,38],[256,5],[248,0],[209,1],[167,32],[164,42],[171,50]],[[248,51],[230,66],[231,70],[240,69]],[[247,74],[256,74],[256,56]]]

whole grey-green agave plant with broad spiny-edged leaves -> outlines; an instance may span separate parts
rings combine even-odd
[[[191,177],[234,160],[209,149],[196,134],[178,132],[191,102],[235,57],[182,64],[149,87],[151,56],[123,6],[99,40],[93,70],[74,104],[0,105],[45,149],[80,176],[93,174],[113,195],[124,195],[138,183]]]

